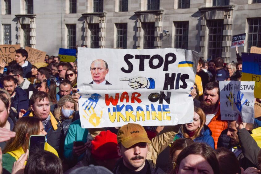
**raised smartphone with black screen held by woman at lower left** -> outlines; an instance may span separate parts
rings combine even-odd
[[[29,154],[28,158],[31,154],[36,151],[44,151],[45,147],[45,136],[44,135],[31,135],[29,140]]]

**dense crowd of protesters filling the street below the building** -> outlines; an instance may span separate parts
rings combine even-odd
[[[236,48],[237,50],[237,48]],[[241,81],[242,59],[217,57],[197,64],[193,122],[176,126],[82,129],[77,61],[58,56],[31,64],[24,49],[0,64],[1,173],[206,173],[261,170],[261,104],[255,123],[221,120],[219,81]],[[106,65],[104,64],[104,68]],[[30,135],[46,137],[44,151],[28,159]]]

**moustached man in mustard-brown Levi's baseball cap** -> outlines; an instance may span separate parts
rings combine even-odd
[[[160,168],[152,168],[147,158],[148,139],[147,132],[139,124],[128,123],[122,126],[117,134],[118,155],[122,158],[114,168],[116,174],[138,173],[162,173]]]

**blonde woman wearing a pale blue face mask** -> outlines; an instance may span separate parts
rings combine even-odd
[[[57,103],[57,108],[54,109],[54,116],[63,127],[64,137],[72,122],[76,109],[77,103],[74,102],[71,95],[65,95],[60,98]]]

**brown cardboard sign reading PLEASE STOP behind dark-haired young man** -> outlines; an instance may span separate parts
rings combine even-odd
[[[28,52],[27,61],[31,64],[34,64],[36,62],[44,62],[46,52],[31,47],[25,47],[25,50]]]

